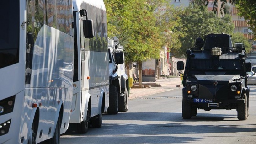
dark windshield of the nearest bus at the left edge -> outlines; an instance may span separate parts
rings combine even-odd
[[[19,0],[0,0],[0,68],[19,62]]]

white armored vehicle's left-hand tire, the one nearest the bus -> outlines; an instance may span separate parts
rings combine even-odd
[[[109,107],[107,108],[107,114],[118,113],[118,93],[117,87],[114,85],[109,86]]]

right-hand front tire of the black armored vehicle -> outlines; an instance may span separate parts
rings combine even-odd
[[[247,96],[246,94],[244,95],[244,99],[245,99],[245,103],[241,103],[238,104],[237,106],[237,118],[239,120],[246,120],[247,119],[247,111],[248,111],[248,107],[247,107]]]

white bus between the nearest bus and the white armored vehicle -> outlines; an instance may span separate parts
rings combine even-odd
[[[75,58],[70,123],[78,133],[99,128],[109,105],[107,18],[103,0],[73,0]],[[93,38],[84,34],[93,23]],[[70,126],[71,127],[71,126]]]

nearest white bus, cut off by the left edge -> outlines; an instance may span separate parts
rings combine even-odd
[[[71,0],[0,0],[0,144],[59,144],[73,90]]]

